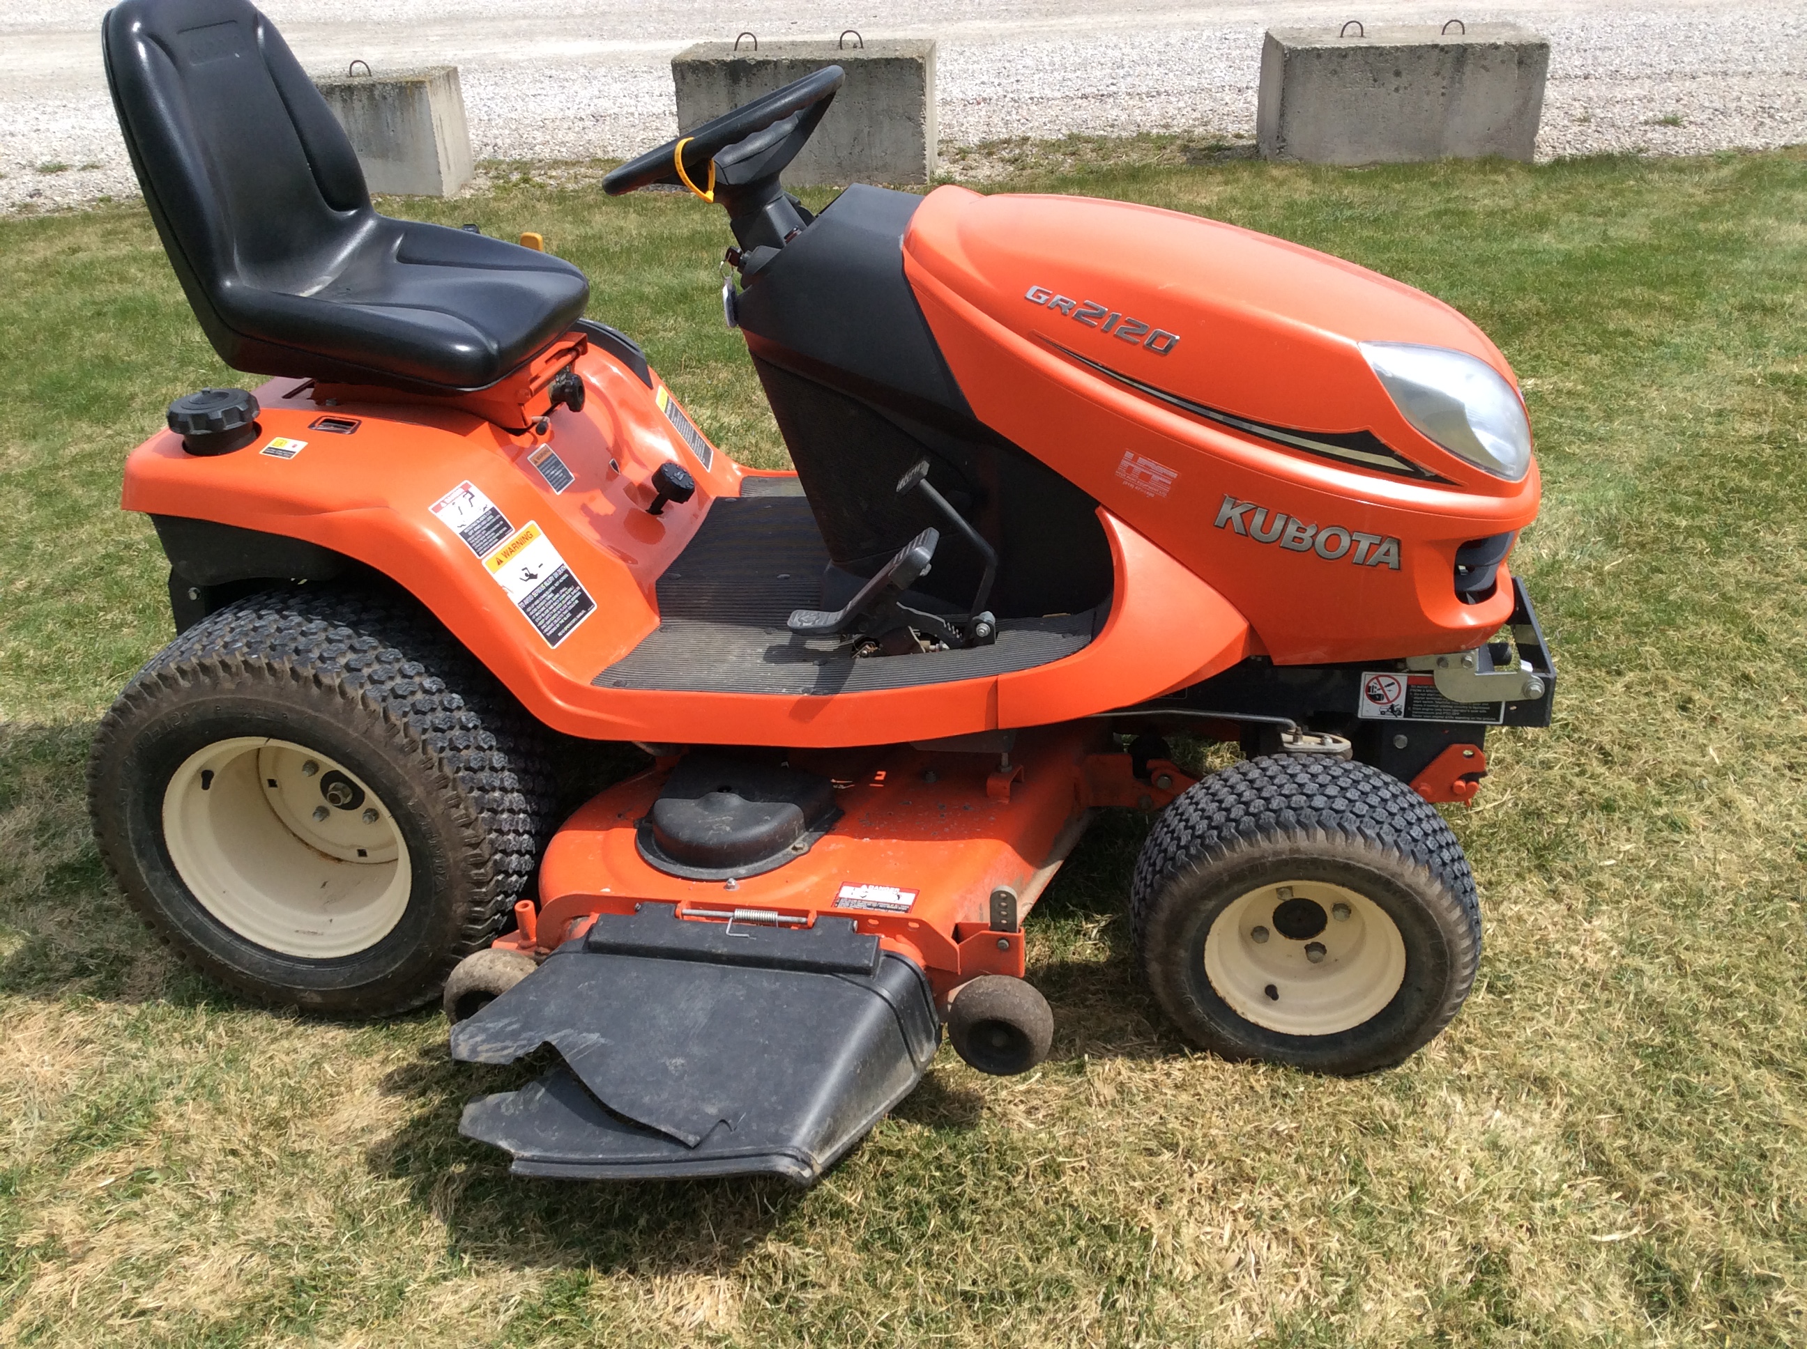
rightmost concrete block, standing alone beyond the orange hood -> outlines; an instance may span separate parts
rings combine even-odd
[[[1256,139],[1317,164],[1531,159],[1549,69],[1549,40],[1518,23],[1269,29]]]

